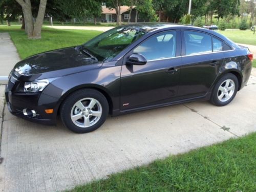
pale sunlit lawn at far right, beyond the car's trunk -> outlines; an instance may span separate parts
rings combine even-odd
[[[256,46],[256,33],[253,35],[252,31],[241,31],[241,30],[236,30],[236,31],[216,31],[218,33],[221,33],[231,39],[234,42],[238,42],[240,44],[248,44],[248,45],[254,45]]]

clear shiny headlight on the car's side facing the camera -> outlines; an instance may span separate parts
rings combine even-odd
[[[37,81],[32,81],[32,82],[25,82],[24,84],[24,92],[41,92],[42,90],[45,89],[45,87],[49,84],[48,79],[43,79],[43,80],[37,80]]]

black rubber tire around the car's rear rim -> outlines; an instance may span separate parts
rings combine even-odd
[[[233,94],[232,96],[227,100],[227,101],[221,101],[218,98],[218,94],[220,95],[220,91],[219,88],[222,85],[222,83],[224,81],[226,81],[227,79],[231,79],[234,82],[234,90],[233,90]],[[236,75],[233,75],[232,73],[227,73],[225,74],[223,77],[220,78],[220,80],[215,84],[214,89],[212,90],[212,94],[211,94],[211,99],[210,102],[214,105],[217,106],[224,106],[227,105],[228,103],[230,103],[233,98],[236,96],[237,91],[238,91],[238,86],[239,86],[239,82],[238,82],[238,78],[236,77]]]

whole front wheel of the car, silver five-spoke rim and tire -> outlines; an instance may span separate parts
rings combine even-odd
[[[88,133],[98,129],[109,113],[108,100],[93,89],[72,93],[60,109],[62,122],[75,133]]]

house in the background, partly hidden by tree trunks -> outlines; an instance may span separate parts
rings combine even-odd
[[[121,12],[121,22],[128,22],[131,7],[130,6],[121,6],[120,8],[121,8],[121,11],[120,11]],[[112,23],[112,22],[116,22],[116,18],[117,18],[117,15],[116,15],[116,10],[114,8],[108,8],[106,6],[102,6],[100,22]],[[133,6],[130,22],[135,22],[135,19],[136,19],[136,6]],[[137,22],[144,22],[144,21],[147,21],[147,20],[140,19],[139,14],[138,14]]]

